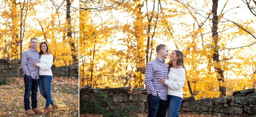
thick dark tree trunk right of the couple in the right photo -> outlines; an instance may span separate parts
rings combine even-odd
[[[218,47],[218,16],[217,16],[217,9],[218,9],[218,0],[212,0],[212,38],[214,39],[215,47]],[[215,48],[213,53],[213,61],[219,62],[219,51]],[[223,70],[221,68],[215,67],[215,70],[218,72],[220,76],[218,77],[218,81],[225,82],[223,76]],[[226,96],[226,87],[221,86],[219,84],[219,91],[220,97]]]

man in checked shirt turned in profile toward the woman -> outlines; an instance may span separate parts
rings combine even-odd
[[[147,87],[148,117],[165,117],[167,111],[167,85],[159,84],[158,78],[164,79],[168,75],[168,66],[165,60],[168,53],[166,45],[156,47],[156,58],[146,65],[145,81]]]

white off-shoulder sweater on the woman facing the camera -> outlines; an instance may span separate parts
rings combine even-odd
[[[39,75],[53,76],[51,72],[53,56],[52,55],[41,55],[37,67],[39,67]]]

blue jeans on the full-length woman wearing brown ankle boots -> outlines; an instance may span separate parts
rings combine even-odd
[[[51,99],[51,81],[52,76],[39,75],[40,94],[46,99],[45,107],[49,107],[53,103]]]

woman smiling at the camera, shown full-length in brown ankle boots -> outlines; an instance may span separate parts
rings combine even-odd
[[[55,111],[58,108],[52,99],[51,99],[51,81],[52,81],[52,72],[51,66],[53,61],[53,56],[48,51],[48,45],[46,42],[40,43],[40,59],[39,63],[33,62],[33,66],[39,67],[39,90],[40,94],[46,99],[45,109],[42,112],[43,114],[47,114],[50,109],[49,105],[52,105],[52,111]]]

